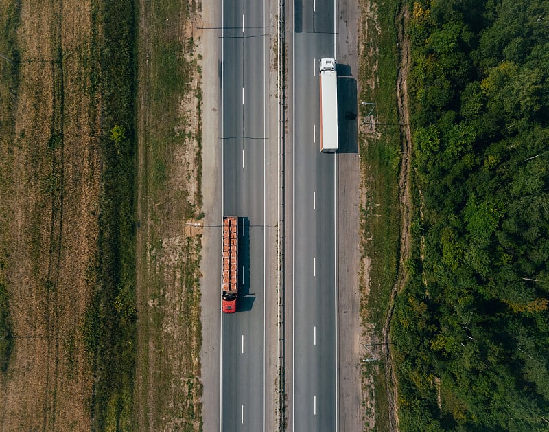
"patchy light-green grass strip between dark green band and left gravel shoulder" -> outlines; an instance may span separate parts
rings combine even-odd
[[[135,429],[202,429],[200,3],[141,2]]]

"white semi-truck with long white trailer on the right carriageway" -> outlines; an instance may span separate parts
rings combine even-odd
[[[338,74],[335,58],[320,59],[320,151],[338,151]]]

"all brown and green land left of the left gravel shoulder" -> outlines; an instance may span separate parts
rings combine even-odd
[[[0,0],[1,431],[202,429],[199,16]]]

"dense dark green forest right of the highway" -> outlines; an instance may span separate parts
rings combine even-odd
[[[549,1],[408,10],[401,430],[549,430]]]

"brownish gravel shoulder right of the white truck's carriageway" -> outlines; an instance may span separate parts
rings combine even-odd
[[[349,92],[354,106],[344,111],[358,112],[358,2],[342,0],[338,16],[338,63],[350,68],[350,77],[340,76],[339,84]],[[346,74],[349,75],[349,74]],[[349,79],[350,78],[350,79]],[[344,80],[344,81],[342,81]],[[342,104],[340,104],[342,106]],[[343,113],[340,113],[343,117]],[[352,117],[352,116],[351,116]],[[359,119],[360,120],[360,119]],[[360,323],[360,158],[357,151],[357,121],[343,120],[342,146],[349,152],[338,155],[338,361],[339,430],[363,429]]]

